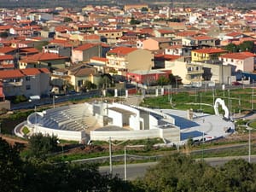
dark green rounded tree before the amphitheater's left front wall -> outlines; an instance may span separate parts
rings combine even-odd
[[[29,157],[45,160],[47,154],[57,151],[58,138],[54,135],[34,134],[28,142]]]

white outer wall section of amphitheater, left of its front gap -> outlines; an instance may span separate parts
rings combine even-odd
[[[55,130],[49,129],[40,125],[34,125],[34,133],[43,133],[44,135],[49,134],[55,135],[59,139],[70,140],[70,141],[78,141],[81,142],[84,140],[84,131],[63,131],[63,130]]]

